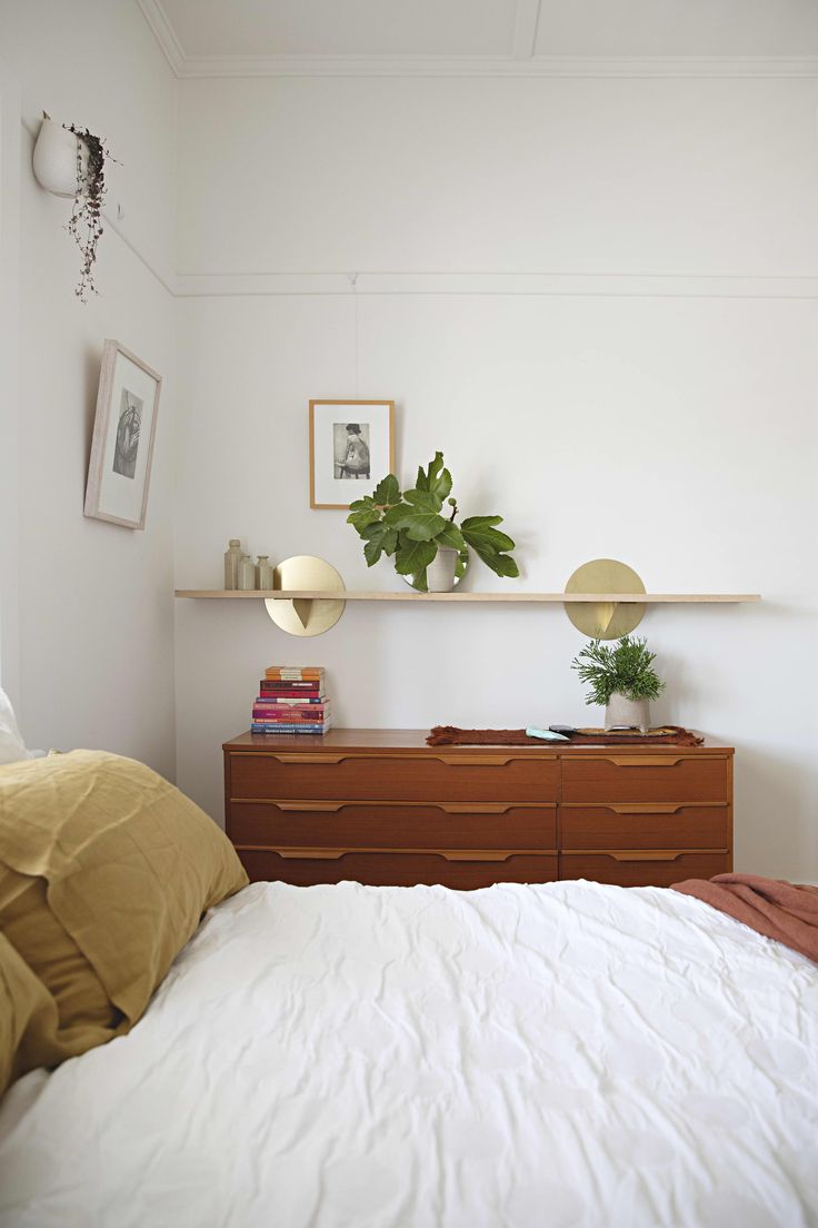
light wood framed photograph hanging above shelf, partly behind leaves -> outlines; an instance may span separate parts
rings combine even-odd
[[[394,472],[394,400],[310,400],[310,507],[347,511]]]

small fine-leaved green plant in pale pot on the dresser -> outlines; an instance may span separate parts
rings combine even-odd
[[[591,640],[574,657],[571,669],[591,689],[586,704],[605,706],[605,728],[650,728],[650,701],[665,689],[654,669],[655,652],[648,641],[623,635],[613,646]]]

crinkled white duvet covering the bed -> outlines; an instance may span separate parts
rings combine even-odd
[[[259,883],[12,1088],[0,1223],[814,1224],[818,969],[654,888]]]

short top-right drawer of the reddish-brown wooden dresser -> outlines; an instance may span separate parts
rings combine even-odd
[[[727,756],[583,755],[562,765],[563,802],[728,801]]]

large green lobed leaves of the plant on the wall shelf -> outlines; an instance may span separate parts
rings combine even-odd
[[[444,502],[446,515],[443,515]],[[435,452],[427,469],[417,470],[415,486],[401,491],[394,473],[378,483],[372,495],[350,505],[347,523],[364,540],[363,555],[369,567],[381,554],[395,556],[395,571],[413,576],[415,587],[426,592],[426,569],[438,550],[462,553],[471,546],[498,576],[519,576],[509,554],[514,542],[497,528],[502,516],[468,516],[460,524],[457,501],[451,496],[451,474],[444,468],[443,452]]]

